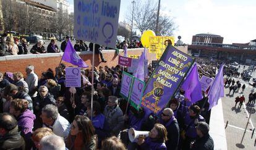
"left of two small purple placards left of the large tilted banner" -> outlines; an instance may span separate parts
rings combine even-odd
[[[129,73],[123,72],[120,95],[126,98],[126,100],[129,99],[130,85],[132,85],[132,79],[133,79],[132,75],[130,75]]]

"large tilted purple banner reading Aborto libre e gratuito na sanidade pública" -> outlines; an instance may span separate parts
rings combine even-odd
[[[158,114],[173,97],[194,60],[168,45],[151,75],[142,97],[142,107]]]

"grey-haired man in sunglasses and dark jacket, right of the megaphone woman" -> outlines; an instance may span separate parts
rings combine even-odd
[[[176,150],[179,144],[179,125],[171,108],[165,108],[161,113],[160,123],[166,127],[168,141],[165,143],[169,150]]]

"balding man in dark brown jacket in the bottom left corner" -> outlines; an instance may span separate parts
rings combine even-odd
[[[25,141],[20,136],[17,120],[9,113],[0,114],[0,149],[24,149]]]

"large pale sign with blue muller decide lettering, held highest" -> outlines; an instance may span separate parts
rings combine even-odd
[[[75,0],[75,38],[115,48],[120,1]]]

